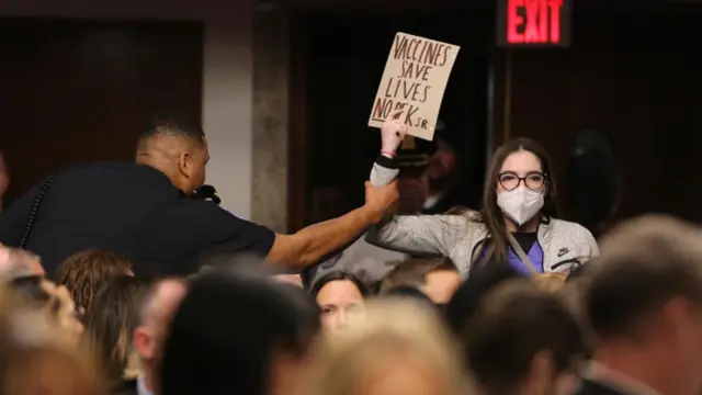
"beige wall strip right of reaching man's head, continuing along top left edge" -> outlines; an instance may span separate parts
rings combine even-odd
[[[224,206],[251,217],[253,0],[2,0],[0,14],[203,21],[207,182]]]

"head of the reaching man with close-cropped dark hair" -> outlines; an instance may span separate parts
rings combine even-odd
[[[185,194],[203,185],[208,160],[202,127],[177,116],[156,115],[139,136],[137,163],[161,171]]]

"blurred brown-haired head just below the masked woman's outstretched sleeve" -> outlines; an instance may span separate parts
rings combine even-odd
[[[446,304],[461,285],[461,275],[449,258],[412,258],[396,266],[381,282],[381,294],[411,286],[435,304]]]

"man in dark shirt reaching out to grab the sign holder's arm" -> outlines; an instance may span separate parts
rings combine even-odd
[[[395,185],[366,184],[362,207],[280,235],[186,198],[204,183],[208,159],[202,128],[157,116],[139,138],[136,163],[75,166],[41,181],[0,215],[0,242],[38,253],[49,274],[87,248],[126,256],[137,274],[191,273],[205,251],[250,252],[298,271],[344,247],[397,201]]]

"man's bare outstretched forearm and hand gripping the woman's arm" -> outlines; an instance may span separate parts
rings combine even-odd
[[[366,203],[346,215],[307,226],[293,235],[275,235],[265,260],[278,268],[299,271],[346,247],[367,227],[381,222],[396,205],[396,182],[384,187],[366,183]]]

